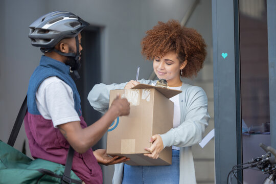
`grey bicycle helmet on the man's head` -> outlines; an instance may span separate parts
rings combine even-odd
[[[43,53],[51,51],[63,38],[76,37],[89,24],[71,12],[55,11],[35,20],[30,26],[32,45]]]

